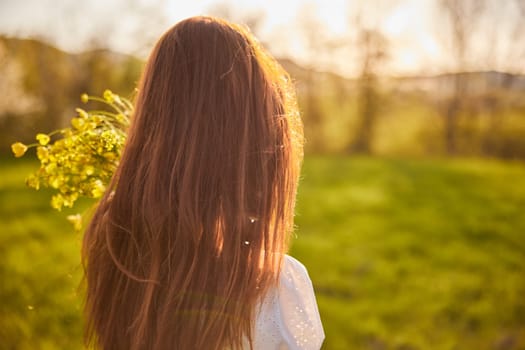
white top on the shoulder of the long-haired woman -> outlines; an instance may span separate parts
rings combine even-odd
[[[257,314],[253,348],[318,350],[324,337],[308,272],[299,261],[285,255],[279,287],[266,295]]]

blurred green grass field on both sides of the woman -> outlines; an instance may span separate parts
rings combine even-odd
[[[0,163],[0,349],[80,349],[81,237],[35,166]],[[525,164],[310,157],[296,224],[323,349],[525,349]]]

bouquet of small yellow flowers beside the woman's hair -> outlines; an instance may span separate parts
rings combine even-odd
[[[109,90],[104,91],[103,97],[83,94],[81,101],[101,102],[109,110],[77,108],[70,127],[39,133],[37,142],[29,145],[11,145],[15,157],[36,148],[40,167],[27,177],[26,184],[36,190],[41,186],[56,189],[51,206],[59,211],[73,207],[79,197],[102,196],[120,159],[133,110],[129,100]],[[78,224],[75,226],[79,228]]]

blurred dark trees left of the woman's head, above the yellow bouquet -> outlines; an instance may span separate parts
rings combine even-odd
[[[143,62],[110,51],[68,54],[38,40],[0,37],[0,153],[68,123],[83,92],[128,96]]]

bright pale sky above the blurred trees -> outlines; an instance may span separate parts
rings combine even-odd
[[[438,1],[0,0],[0,33],[37,36],[68,51],[81,51],[96,42],[146,56],[162,32],[186,17],[222,14],[241,22],[257,18],[255,32],[275,56],[352,76],[359,68],[357,28],[364,27],[378,29],[386,37],[384,73],[434,74],[454,69],[451,28]],[[525,28],[516,25],[517,16],[525,16],[518,1],[523,0],[488,0],[490,15],[471,30],[471,69],[525,72],[525,41],[516,41],[525,33],[515,33]],[[314,23],[314,29],[305,30],[305,23]],[[324,46],[309,49],[309,37]],[[326,48],[334,44],[346,46],[335,51]]]

